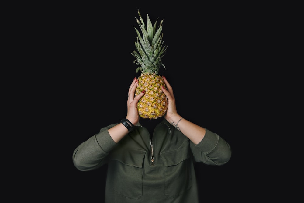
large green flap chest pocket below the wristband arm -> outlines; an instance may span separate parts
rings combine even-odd
[[[145,150],[128,149],[111,157],[109,162],[116,193],[132,199],[143,195],[143,159]]]

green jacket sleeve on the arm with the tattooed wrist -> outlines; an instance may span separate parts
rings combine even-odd
[[[206,129],[206,134],[197,145],[191,142],[191,149],[196,162],[207,165],[223,165],[231,158],[230,145],[219,135]]]

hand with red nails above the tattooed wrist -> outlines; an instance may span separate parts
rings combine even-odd
[[[163,76],[164,82],[166,84],[167,89],[162,87],[162,90],[164,94],[167,96],[168,99],[168,109],[166,114],[164,115],[165,119],[167,121],[170,121],[171,118],[178,116],[177,110],[176,110],[176,104],[175,104],[175,98],[173,95],[173,89],[165,76]]]

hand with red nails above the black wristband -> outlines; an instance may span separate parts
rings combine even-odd
[[[135,96],[135,90],[136,90],[137,84],[138,84],[138,80],[135,77],[129,88],[128,100],[127,100],[128,112],[127,112],[126,119],[128,119],[131,123],[133,123],[133,125],[136,125],[139,122],[137,103],[140,100],[140,98],[145,94],[145,91],[142,91],[140,94]]]

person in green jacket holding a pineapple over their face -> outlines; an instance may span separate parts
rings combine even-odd
[[[128,91],[126,119],[101,128],[74,150],[78,170],[108,164],[105,203],[198,203],[194,163],[220,166],[230,160],[231,148],[223,138],[178,114],[173,89],[162,77],[168,99],[163,118],[139,116],[137,103],[145,91],[135,96],[135,77]]]

